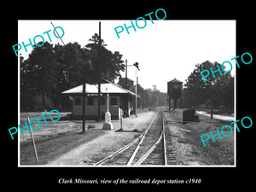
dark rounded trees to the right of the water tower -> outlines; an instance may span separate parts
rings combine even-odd
[[[207,77],[204,82],[201,77],[203,70],[212,67],[212,70],[221,68],[217,61],[204,61],[196,64],[195,69],[190,73],[183,89],[183,107],[184,108],[208,108],[222,109],[227,112],[234,112],[234,77],[230,73],[220,75],[215,73]]]

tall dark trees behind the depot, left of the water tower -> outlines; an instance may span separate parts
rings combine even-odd
[[[41,44],[43,42],[38,43]],[[70,110],[72,103],[68,96],[61,95],[61,92],[83,84],[83,77],[89,84],[97,84],[100,78],[111,82],[119,78],[119,84],[124,87],[122,80],[120,81],[120,72],[125,71],[122,56],[119,51],[108,50],[107,44],[104,44],[103,39],[100,42],[96,33],[84,47],[77,42],[66,45],[45,42],[41,47],[34,46],[28,59],[20,57],[21,111],[34,109],[33,96],[42,96],[40,110],[46,109],[45,96],[49,96],[55,108]],[[134,87],[132,82],[127,90],[135,92]],[[166,102],[166,94],[160,93],[156,88],[144,90],[138,84],[137,90],[141,98],[140,107],[154,107]]]

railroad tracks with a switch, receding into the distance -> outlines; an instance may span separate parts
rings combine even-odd
[[[146,131],[95,166],[168,166],[177,165],[170,131],[163,111],[157,111]]]

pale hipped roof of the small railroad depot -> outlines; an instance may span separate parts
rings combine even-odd
[[[62,94],[82,94],[83,92],[83,84],[74,87],[70,90],[63,91]],[[98,84],[85,84],[85,93],[98,93]],[[120,87],[118,84],[107,83],[101,84],[101,93],[119,93],[119,94],[131,94],[132,96],[136,96],[135,93],[130,90],[125,90]]]

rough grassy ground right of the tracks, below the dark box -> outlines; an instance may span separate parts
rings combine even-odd
[[[218,119],[210,119],[204,115],[199,115],[200,122],[188,123],[187,129],[191,132],[186,132],[184,135],[192,143],[192,148],[200,154],[201,159],[210,165],[234,165],[234,131],[230,137],[222,136],[214,137],[215,143],[210,136],[210,139],[206,141],[206,147],[204,147],[201,141],[201,135],[209,134],[212,131],[212,135],[217,134],[216,129],[219,131],[224,125],[230,125],[229,122],[221,121]],[[229,135],[228,132],[225,133]]]

